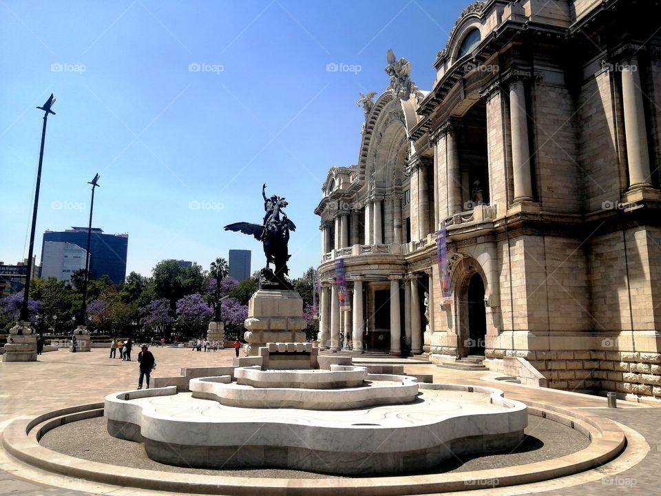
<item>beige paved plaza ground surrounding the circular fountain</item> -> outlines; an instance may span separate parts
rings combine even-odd
[[[233,350],[198,353],[189,349],[156,347],[152,351],[158,362],[158,375],[178,375],[180,367],[183,366],[228,365],[231,364],[234,355]],[[372,362],[373,359],[369,361]],[[396,361],[401,363],[401,360]],[[634,495],[659,493],[661,471],[658,470],[658,466],[661,464],[661,433],[658,426],[661,424],[661,408],[620,401],[618,402],[620,408],[607,409],[605,408],[605,398],[533,389],[516,384],[494,383],[490,379],[495,374],[485,371],[453,371],[411,360],[403,363],[406,371],[410,373],[432,373],[434,382],[495,386],[503,389],[507,397],[514,399],[535,400],[567,408],[586,409],[633,428],[644,437],[650,447],[649,453],[642,459],[642,462],[617,475],[608,475],[609,471],[605,469],[606,477],[594,473],[574,475],[545,483],[495,488],[479,493],[514,495],[534,492],[543,495],[581,496],[597,494],[608,496],[625,492]],[[0,431],[10,419],[15,417],[36,415],[76,404],[102,402],[103,397],[108,393],[134,388],[138,379],[137,372],[137,362],[109,359],[107,352],[103,349],[94,349],[91,353],[74,354],[67,351],[45,353],[39,357],[39,362],[0,362]],[[531,422],[534,422],[534,418],[531,419]],[[634,448],[632,451],[636,449],[638,448]],[[641,446],[640,450],[643,449],[644,446]],[[146,490],[110,486],[98,486],[98,489],[95,489],[93,484],[83,482],[79,484],[81,490],[66,490],[34,482],[34,480],[39,480],[38,473],[28,480],[19,477],[15,472],[14,460],[0,449],[0,496],[152,494]],[[590,479],[594,480],[580,484]],[[478,491],[463,494],[470,493],[478,493]]]

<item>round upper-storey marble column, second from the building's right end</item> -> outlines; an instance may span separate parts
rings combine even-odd
[[[525,87],[521,80],[516,80],[510,85],[510,122],[512,125],[514,201],[532,200]]]

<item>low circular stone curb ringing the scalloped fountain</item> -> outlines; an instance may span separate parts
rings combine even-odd
[[[468,391],[469,386],[465,387]],[[130,393],[130,392],[129,392]],[[474,471],[464,473],[446,473],[438,477],[434,475],[404,475],[401,477],[364,477],[359,479],[259,479],[255,477],[229,477],[211,475],[196,478],[191,482],[188,474],[162,473],[137,468],[122,467],[89,462],[87,460],[70,457],[43,448],[36,440],[36,428],[43,422],[50,421],[61,415],[70,415],[72,411],[84,411],[87,406],[74,406],[69,409],[52,411],[32,418],[19,418],[10,422],[5,428],[1,442],[8,453],[17,459],[42,468],[45,471],[55,472],[72,477],[82,477],[94,482],[114,484],[117,486],[130,486],[151,490],[167,490],[181,493],[209,493],[241,495],[246,488],[259,490],[264,496],[280,495],[282,489],[287,488],[287,494],[306,495],[310,490],[320,495],[331,495],[341,489],[347,495],[364,494],[369,490],[374,495],[406,495],[411,493],[440,493],[452,490],[465,490],[467,482],[470,488],[492,488],[493,481],[498,486],[514,486],[541,482],[556,477],[576,474],[596,468],[609,462],[622,451],[626,444],[624,432],[615,422],[590,413],[562,409],[557,406],[526,402],[530,413],[540,415],[543,412],[552,412],[564,415],[571,422],[577,422],[585,431],[589,432],[591,444],[587,448],[545,462],[536,462],[500,469]],[[547,415],[547,418],[549,416]]]

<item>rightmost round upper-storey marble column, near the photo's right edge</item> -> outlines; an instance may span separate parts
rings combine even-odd
[[[640,90],[640,66],[634,57],[622,63],[622,106],[629,163],[629,188],[651,186],[647,126]]]

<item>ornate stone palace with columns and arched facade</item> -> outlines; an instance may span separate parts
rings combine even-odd
[[[429,92],[389,52],[390,86],[359,101],[358,163],[330,169],[315,209],[319,344],[485,355],[558,389],[661,398],[659,13],[472,3]]]

